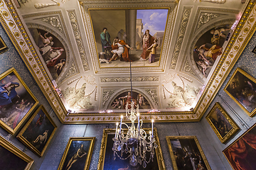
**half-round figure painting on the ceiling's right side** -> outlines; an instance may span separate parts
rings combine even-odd
[[[196,42],[193,59],[204,77],[208,77],[215,60],[222,54],[223,43],[230,31],[229,25],[220,25],[208,30]]]

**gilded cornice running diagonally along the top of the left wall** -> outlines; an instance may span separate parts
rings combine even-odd
[[[21,19],[14,8],[11,1],[0,1],[1,24],[14,42],[18,53],[30,70],[38,86],[48,99],[60,121],[65,118],[65,108],[58,97],[57,92],[53,89],[53,85],[48,77],[46,70],[41,64],[41,60],[28,36],[27,30],[23,27],[25,23]]]

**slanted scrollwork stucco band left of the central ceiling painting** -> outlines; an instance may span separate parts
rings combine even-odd
[[[68,11],[68,17],[70,18],[70,23],[72,25],[72,29],[73,29],[73,33],[74,33],[74,37],[75,37],[75,42],[78,45],[78,51],[80,54],[80,58],[82,60],[82,67],[84,69],[84,71],[88,71],[90,70],[88,62],[87,62],[87,58],[85,56],[85,47],[83,45],[81,36],[80,36],[80,29],[78,26],[78,21],[77,18],[75,16],[75,11]]]

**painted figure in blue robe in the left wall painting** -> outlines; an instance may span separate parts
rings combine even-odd
[[[19,84],[17,82],[9,82],[0,86],[0,106],[12,103],[12,99],[18,96],[15,90],[18,86]]]

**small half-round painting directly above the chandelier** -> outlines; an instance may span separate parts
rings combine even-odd
[[[137,92],[132,91],[126,91],[122,94],[119,94],[116,98],[114,98],[114,101],[112,101],[110,109],[125,109],[127,102],[131,103],[131,99],[134,101],[134,105],[139,105],[139,109],[150,109],[151,106],[149,104],[149,101],[146,100],[146,98]]]

